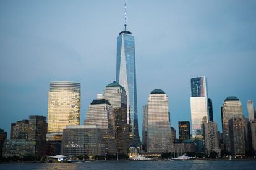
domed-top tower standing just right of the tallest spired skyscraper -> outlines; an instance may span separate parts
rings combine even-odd
[[[171,145],[168,96],[161,89],[148,97],[148,152],[168,152]]]

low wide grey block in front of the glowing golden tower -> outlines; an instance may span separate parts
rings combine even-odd
[[[63,132],[62,155],[105,155],[101,131],[96,125],[66,126]]]

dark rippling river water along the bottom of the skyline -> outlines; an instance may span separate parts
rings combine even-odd
[[[93,161],[85,163],[4,163],[0,169],[256,169],[256,160]]]

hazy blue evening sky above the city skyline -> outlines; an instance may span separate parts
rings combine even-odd
[[[139,133],[153,89],[169,97],[171,126],[190,121],[190,78],[207,77],[213,119],[237,96],[256,103],[256,1],[126,1],[135,36]],[[47,116],[51,81],[81,83],[81,124],[116,78],[124,1],[0,1],[0,128]],[[256,104],[255,104],[256,105]],[[177,131],[178,134],[178,131]]]

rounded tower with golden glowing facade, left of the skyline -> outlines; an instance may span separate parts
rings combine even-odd
[[[67,125],[80,124],[80,83],[53,81],[48,94],[46,140],[61,141]]]

